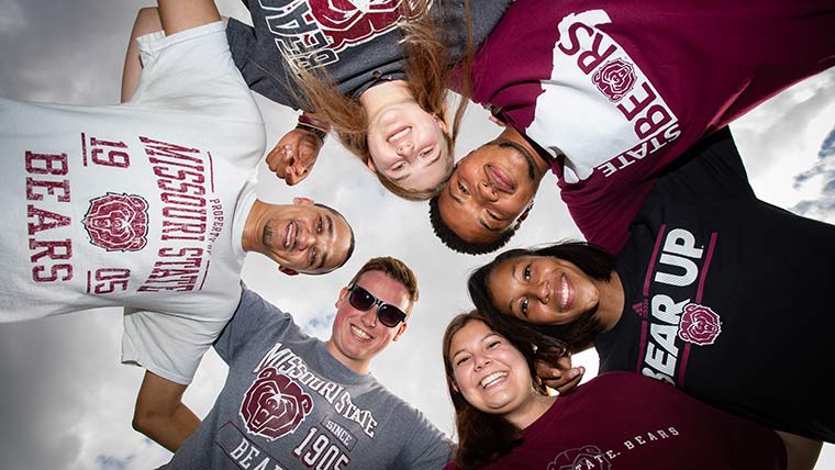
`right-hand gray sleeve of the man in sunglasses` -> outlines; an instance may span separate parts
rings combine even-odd
[[[397,457],[398,469],[441,470],[455,457],[455,445],[417,410],[408,406],[411,421]]]

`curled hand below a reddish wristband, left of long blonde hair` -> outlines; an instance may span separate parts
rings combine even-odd
[[[267,155],[267,166],[288,186],[298,184],[310,175],[321,148],[322,139],[313,133],[293,128]]]

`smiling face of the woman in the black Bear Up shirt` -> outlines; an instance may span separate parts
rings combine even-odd
[[[575,264],[550,256],[505,259],[487,278],[493,306],[536,325],[564,325],[595,310],[598,281]]]

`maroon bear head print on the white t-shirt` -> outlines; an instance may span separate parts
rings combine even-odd
[[[90,201],[81,223],[90,243],[108,251],[138,251],[147,244],[148,203],[134,194],[109,192]]]

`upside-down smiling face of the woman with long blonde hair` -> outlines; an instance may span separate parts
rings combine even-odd
[[[443,120],[417,103],[401,103],[368,124],[368,168],[407,190],[444,181],[453,168]]]

